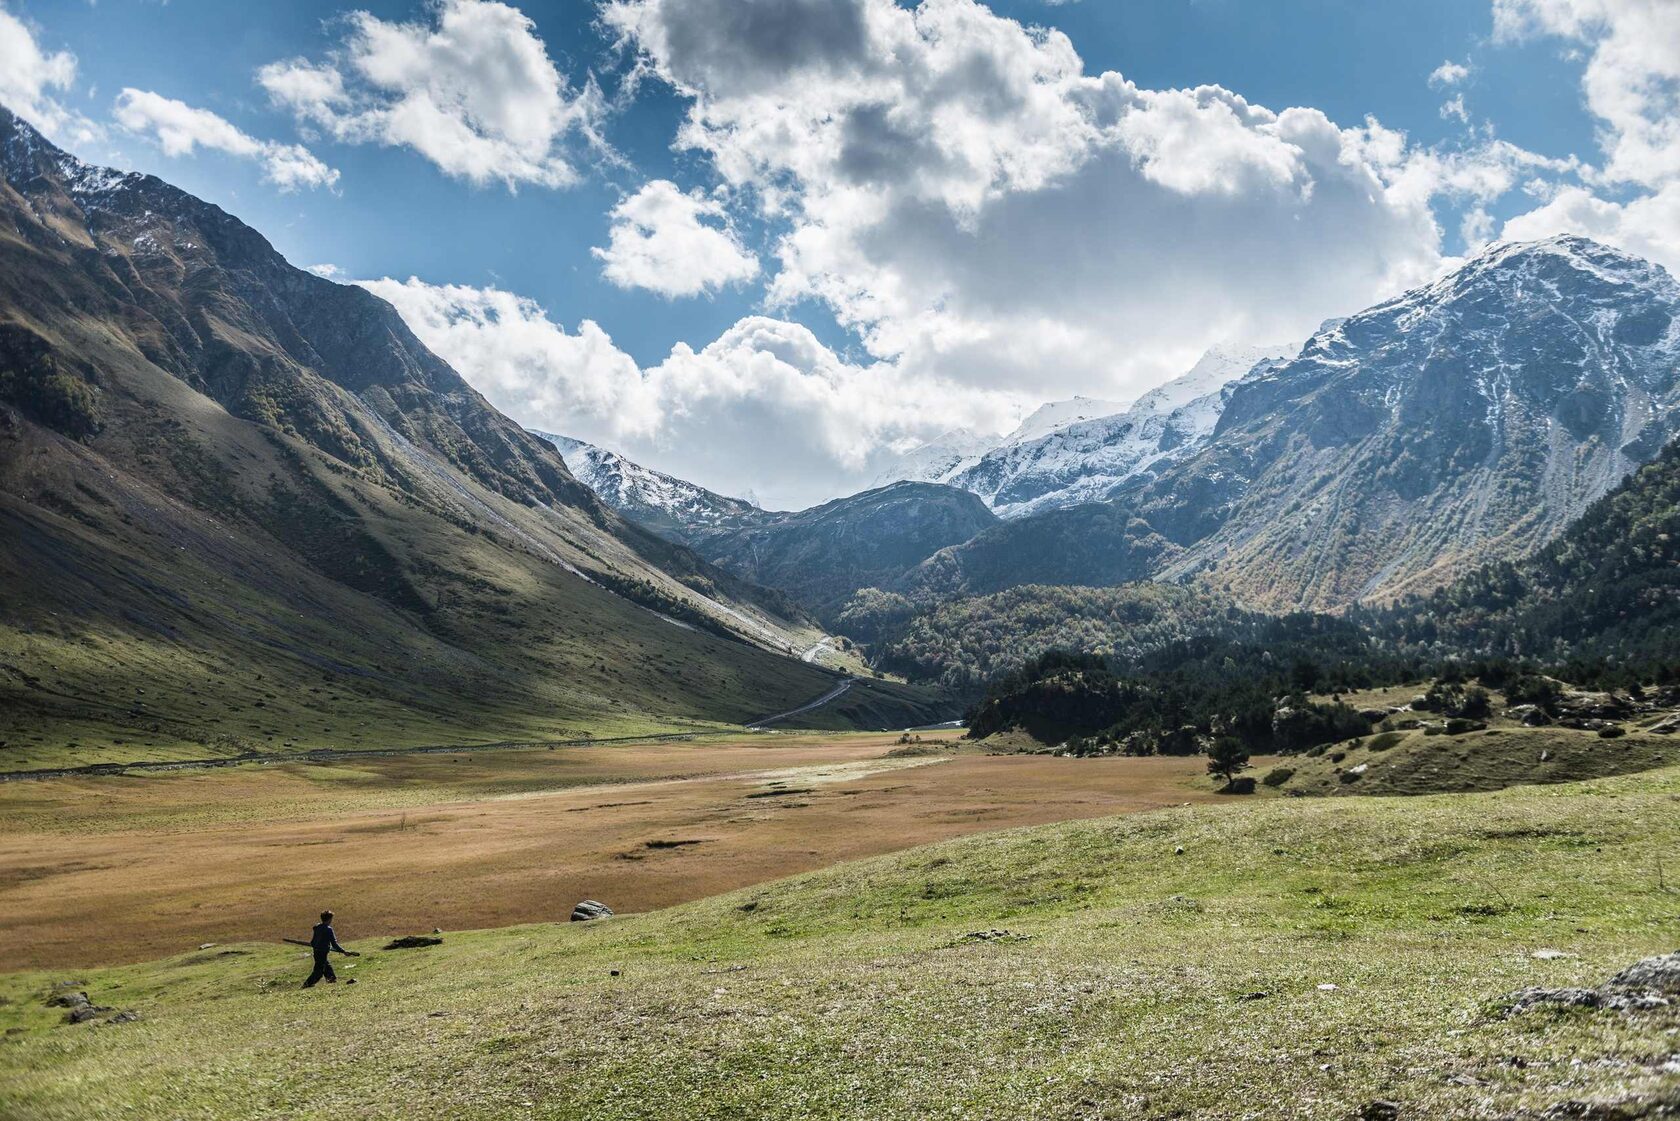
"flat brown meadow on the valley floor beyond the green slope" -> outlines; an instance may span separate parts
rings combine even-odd
[[[670,906],[959,834],[1215,800],[1200,758],[756,736],[0,788],[0,968]]]

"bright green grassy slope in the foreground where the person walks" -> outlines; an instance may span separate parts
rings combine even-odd
[[[1680,1089],[1673,1008],[1499,1010],[1673,950],[1658,867],[1677,803],[1670,768],[990,834],[608,923],[360,945],[358,985],[331,990],[299,992],[301,951],[269,945],[12,975],[0,1114],[1349,1118],[1391,1099],[1505,1118],[1648,1099]],[[144,1018],[60,1024],[42,998],[62,980]]]

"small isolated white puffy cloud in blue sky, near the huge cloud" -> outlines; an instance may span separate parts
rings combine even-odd
[[[758,257],[727,225],[722,203],[654,180],[612,210],[605,249],[593,254],[618,287],[699,296],[758,276]]]

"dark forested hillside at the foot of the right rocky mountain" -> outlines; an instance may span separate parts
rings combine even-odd
[[[1472,662],[1525,664],[1591,687],[1677,682],[1680,444],[1532,558],[1485,565],[1381,610],[1277,618],[1205,588],[1151,582],[1026,585],[949,602],[865,588],[842,610],[840,629],[870,644],[877,669],[966,697],[1020,684],[1011,674],[1052,650],[1092,654],[1121,676],[1151,679],[1194,677],[1211,649],[1255,677],[1243,659],[1270,652],[1285,664],[1299,657],[1319,666],[1329,689],[1357,687],[1352,679],[1361,676],[1421,679],[1425,667],[1450,674]],[[1289,684],[1273,672],[1275,660],[1262,667],[1268,687]],[[1053,701],[1048,686],[1040,692],[1052,709],[1070,704]]]

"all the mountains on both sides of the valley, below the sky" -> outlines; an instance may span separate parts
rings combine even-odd
[[[521,429],[371,292],[5,111],[0,170],[13,760],[49,726],[106,758],[746,723],[835,689],[798,657],[827,630],[971,691],[1068,635],[1352,608],[1408,649],[1561,657],[1589,617],[1643,657],[1613,617],[1673,610],[1680,287],[1586,239],[766,511]],[[867,682],[810,719],[936,714]]]

